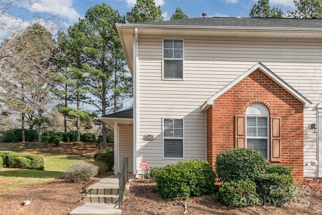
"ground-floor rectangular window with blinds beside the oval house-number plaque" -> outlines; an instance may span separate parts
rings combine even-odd
[[[184,158],[184,121],[183,119],[163,119],[164,158]]]

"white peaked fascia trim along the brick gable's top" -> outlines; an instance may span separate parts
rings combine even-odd
[[[288,93],[290,93],[292,96],[294,96],[297,100],[303,103],[304,108],[311,107],[311,102],[306,99],[304,96],[302,96],[300,93],[298,93],[295,89],[293,89],[291,86],[289,86],[286,82],[284,82],[282,79],[280,79],[278,76],[276,76],[270,69],[268,69],[266,66],[264,66],[261,62],[254,65],[252,68],[247,70],[244,74],[233,80],[231,83],[229,83],[227,86],[222,88],[220,91],[218,91],[215,95],[210,97],[202,106],[201,111],[207,110],[212,104],[215,99],[217,99],[219,96],[227,92],[230,88],[235,86],[237,83],[239,83],[241,80],[245,79],[247,76],[249,76],[253,71],[256,69],[260,69],[264,74],[266,74],[268,77],[270,77],[273,81],[275,81],[278,85],[280,85],[284,90],[286,90]]]

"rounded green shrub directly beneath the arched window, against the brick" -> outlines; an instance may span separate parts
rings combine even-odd
[[[264,174],[267,162],[261,153],[254,149],[229,149],[218,153],[215,171],[219,181],[254,180]]]

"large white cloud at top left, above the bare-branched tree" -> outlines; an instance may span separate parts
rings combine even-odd
[[[72,0],[35,0],[24,2],[23,6],[31,12],[51,13],[74,21],[77,21],[78,18],[81,17],[81,15],[72,8]]]

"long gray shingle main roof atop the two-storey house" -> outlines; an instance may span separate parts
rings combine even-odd
[[[266,27],[266,28],[322,28],[320,19],[274,19],[274,18],[232,18],[201,17],[162,22],[137,23],[163,26],[207,26],[207,27]]]

